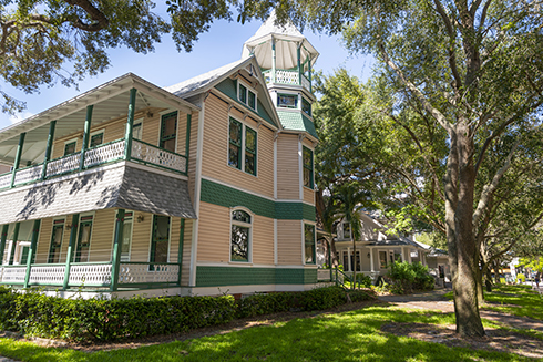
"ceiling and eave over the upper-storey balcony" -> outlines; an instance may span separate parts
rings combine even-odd
[[[199,110],[194,104],[164,91],[137,75],[127,73],[1,130],[0,162],[4,164],[13,163],[19,144],[19,135],[23,132],[27,132],[27,136],[21,167],[28,162],[43,162],[51,121],[57,120],[54,136],[55,138],[61,138],[83,131],[88,105],[94,105],[91,126],[123,116],[129,111],[130,90],[132,87],[137,90],[136,112],[146,107],[175,107],[187,113]]]

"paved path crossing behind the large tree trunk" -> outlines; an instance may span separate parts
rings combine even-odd
[[[404,308],[438,309],[447,313],[454,312],[454,304],[444,294],[450,289],[438,289],[408,296],[380,296],[379,299]],[[515,317],[488,310],[480,310],[481,318],[495,321],[515,329],[533,329],[543,332],[543,321],[526,317]]]

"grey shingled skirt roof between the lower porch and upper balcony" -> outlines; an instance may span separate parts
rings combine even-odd
[[[196,218],[185,179],[142,167],[121,162],[1,193],[0,225],[105,208]]]

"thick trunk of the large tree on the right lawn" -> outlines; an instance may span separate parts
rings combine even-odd
[[[457,277],[453,285],[457,333],[469,337],[484,335],[479,314],[478,272],[479,248],[473,235],[473,193],[475,170],[473,166],[473,139],[468,121],[460,121],[455,128],[458,151],[458,205],[454,210],[458,251]]]

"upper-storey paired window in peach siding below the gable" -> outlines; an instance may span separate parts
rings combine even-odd
[[[228,165],[256,176],[256,131],[230,117],[228,130]]]

